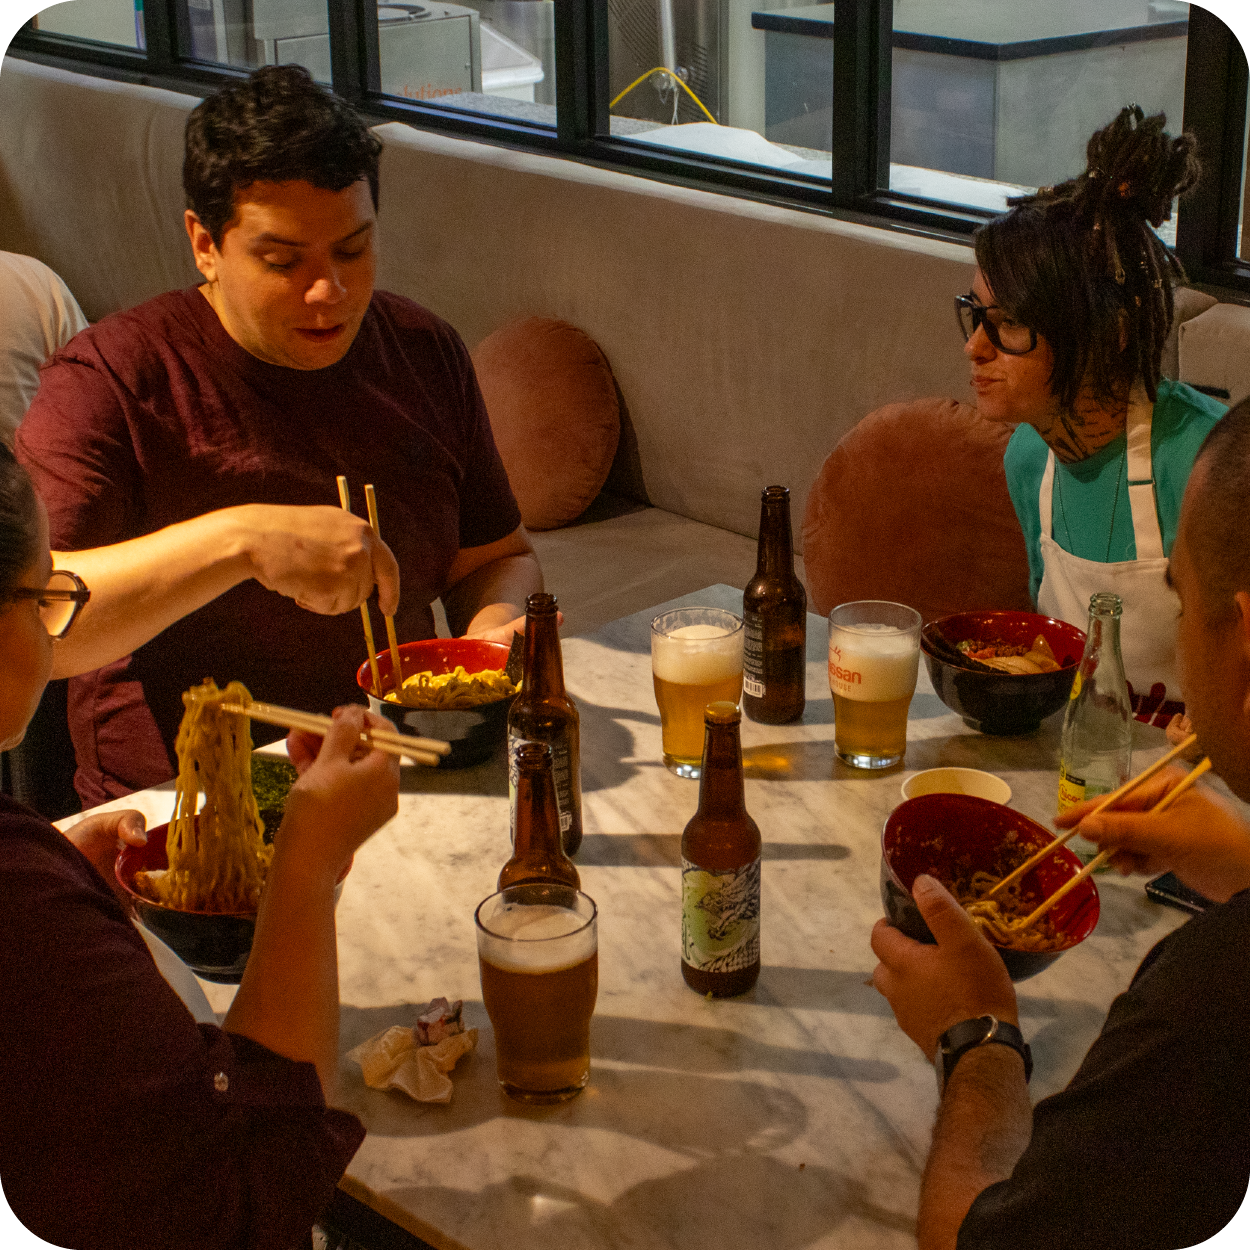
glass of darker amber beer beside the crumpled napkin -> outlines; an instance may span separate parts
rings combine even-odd
[[[478,964],[495,1030],[495,1071],[518,1102],[566,1102],[590,1080],[596,916],[594,899],[554,882],[514,885],[478,906]]]

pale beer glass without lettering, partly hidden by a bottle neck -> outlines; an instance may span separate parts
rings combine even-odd
[[[704,709],[742,698],[742,619],[722,608],[660,612],[651,621],[651,676],[664,762],[679,778],[698,778]]]

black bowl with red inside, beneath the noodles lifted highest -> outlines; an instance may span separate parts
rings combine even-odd
[[[118,852],[114,866],[118,884],[134,904],[144,926],[171,948],[196,976],[222,985],[238,985],[251,954],[251,940],[256,932],[255,911],[180,911],[152,902],[135,889],[136,872],[169,868],[165,852],[168,832],[168,824],[156,825],[148,830],[146,846],[124,846]],[[342,880],[350,871],[349,861],[339,878],[335,902],[342,890]]]

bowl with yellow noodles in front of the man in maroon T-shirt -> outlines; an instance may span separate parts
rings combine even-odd
[[[475,638],[401,642],[399,690],[389,651],[378,652],[384,698],[372,692],[368,661],[356,670],[356,684],[369,695],[370,711],[396,729],[450,744],[440,769],[465,769],[489,760],[508,736],[508,710],[518,690],[504,672],[508,654],[502,642]]]

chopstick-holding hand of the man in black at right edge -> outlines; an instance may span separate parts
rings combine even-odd
[[[1069,809],[1055,824],[1060,829],[1079,825],[1082,838],[1114,850],[1111,864],[1125,876],[1172,871],[1191,890],[1226,902],[1250,886],[1250,829],[1208,786],[1195,786],[1154,815],[1150,808],[1185,775],[1181,769],[1164,769],[1115,811],[1089,815],[1099,801],[1092,799]]]

